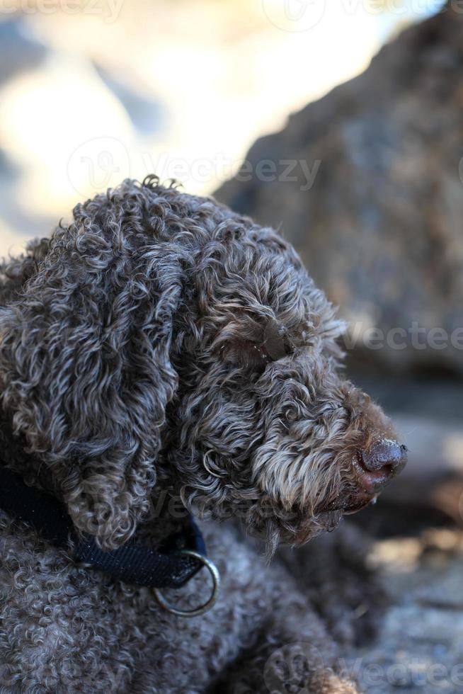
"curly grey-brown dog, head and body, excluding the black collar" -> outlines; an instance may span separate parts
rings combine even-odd
[[[1,692],[355,691],[296,564],[267,567],[214,522],[239,517],[268,554],[302,545],[405,462],[339,375],[343,325],[290,244],[149,178],[77,205],[2,273],[1,474],[60,499],[105,552],[158,546],[181,499],[210,517],[222,589],[171,615],[2,511]],[[183,605],[207,599],[203,574]]]

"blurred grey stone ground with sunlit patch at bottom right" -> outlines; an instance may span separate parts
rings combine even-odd
[[[345,661],[363,690],[463,691],[462,547],[451,530],[377,543],[391,608],[375,644]]]

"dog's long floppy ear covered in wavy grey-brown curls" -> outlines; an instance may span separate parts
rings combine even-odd
[[[103,217],[59,227],[0,309],[0,393],[76,528],[110,549],[135,531],[156,480],[182,278],[168,239],[135,214]]]

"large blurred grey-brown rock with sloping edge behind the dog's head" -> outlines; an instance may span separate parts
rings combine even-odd
[[[297,246],[353,322],[362,363],[463,374],[462,157],[463,4],[452,1],[258,140],[216,196]],[[282,180],[285,160],[299,162],[297,181]]]

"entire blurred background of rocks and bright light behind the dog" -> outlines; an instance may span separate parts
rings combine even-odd
[[[154,172],[278,227],[350,322],[410,449],[355,517],[367,691],[463,690],[462,75],[458,0],[0,0],[0,255]]]

